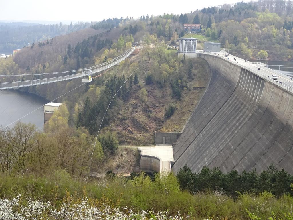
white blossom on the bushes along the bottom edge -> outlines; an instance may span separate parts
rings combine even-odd
[[[134,212],[132,209],[125,207],[111,208],[103,205],[102,208],[93,207],[88,203],[88,199],[82,199],[80,203],[71,204],[62,203],[58,209],[55,209],[50,202],[34,201],[28,199],[26,206],[19,205],[20,194],[11,201],[0,199],[0,220],[38,220],[38,219],[56,219],[56,220],[183,220],[178,214],[169,215],[169,210],[155,213],[152,210],[142,210]]]

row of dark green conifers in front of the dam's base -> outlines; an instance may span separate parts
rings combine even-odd
[[[193,194],[201,191],[223,191],[233,198],[237,198],[239,193],[258,195],[264,191],[277,197],[293,194],[291,190],[293,176],[284,169],[277,170],[273,164],[260,174],[256,170],[251,172],[244,170],[240,174],[237,170],[223,173],[218,167],[214,169],[202,167],[200,172],[192,173],[190,168],[184,165],[178,170],[176,177],[181,190]]]

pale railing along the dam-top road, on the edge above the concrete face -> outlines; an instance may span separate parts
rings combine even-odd
[[[286,91],[288,91],[288,92],[290,92],[290,93],[293,94],[292,87],[287,87],[287,86],[279,83],[277,80],[270,79],[269,77],[261,74],[259,71],[255,71],[255,70],[253,70],[253,69],[251,69],[249,67],[246,67],[246,66],[241,65],[241,64],[239,64],[239,63],[237,63],[235,61],[230,60],[228,57],[224,57],[224,55],[215,54],[215,53],[209,53],[209,52],[201,52],[201,51],[197,51],[197,53],[204,54],[204,55],[212,55],[212,56],[215,56],[215,57],[219,57],[219,58],[221,58],[221,59],[223,59],[225,61],[228,61],[230,63],[233,63],[233,64],[235,64],[235,65],[237,65],[237,66],[239,66],[239,67],[241,67],[241,68],[243,68],[245,70],[248,70],[249,72],[251,72],[251,73],[253,73],[253,74],[255,74],[255,75],[257,75],[257,76],[259,76],[259,77],[261,77],[261,78],[263,78],[265,80],[267,80],[267,81],[270,81],[271,83],[275,84],[276,86],[281,87],[282,89],[285,89]]]

